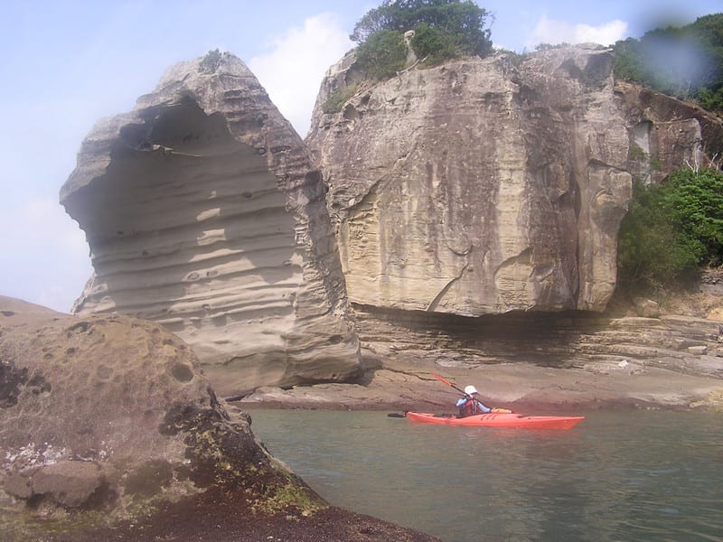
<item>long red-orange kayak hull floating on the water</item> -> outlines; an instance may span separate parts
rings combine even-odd
[[[521,414],[478,414],[476,416],[438,416],[408,412],[411,422],[422,424],[462,425],[465,427],[524,427],[529,429],[570,429],[585,416],[523,416]]]

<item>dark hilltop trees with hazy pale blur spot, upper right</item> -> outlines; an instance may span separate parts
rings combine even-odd
[[[616,42],[615,77],[723,110],[723,14]]]

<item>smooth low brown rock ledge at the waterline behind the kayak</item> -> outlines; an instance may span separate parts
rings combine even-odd
[[[241,409],[309,408],[452,412],[457,387],[474,384],[486,404],[521,413],[572,413],[600,408],[723,410],[723,380],[630,361],[587,369],[525,363],[478,369],[370,369],[359,384],[258,388],[231,404]]]

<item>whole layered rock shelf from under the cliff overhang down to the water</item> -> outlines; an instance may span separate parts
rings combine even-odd
[[[484,324],[484,333],[468,322],[456,329],[415,322],[403,327],[401,319],[357,310],[365,369],[356,383],[257,388],[230,404],[452,412],[459,393],[437,374],[458,388],[474,384],[487,404],[521,413],[723,411],[721,300],[723,271],[709,269],[690,292],[658,301],[616,298],[605,314],[585,318],[501,315]],[[433,340],[418,329],[431,330]],[[425,349],[418,346],[423,341]]]

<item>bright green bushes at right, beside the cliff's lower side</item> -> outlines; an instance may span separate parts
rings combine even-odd
[[[723,173],[681,170],[657,186],[634,185],[618,237],[618,278],[661,287],[723,263]]]

